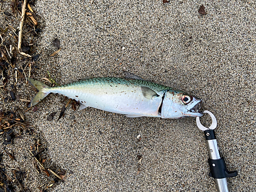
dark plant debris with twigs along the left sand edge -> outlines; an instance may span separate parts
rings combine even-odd
[[[37,106],[28,107],[30,100],[22,92],[27,78],[36,78],[37,75],[36,62],[42,52],[37,50],[40,21],[33,8],[34,0],[0,1],[0,6],[0,16],[4,18],[0,25],[0,192],[31,192],[35,188],[46,191],[47,187],[54,187],[65,179],[67,173],[51,162],[46,144],[38,139],[39,131],[34,131],[30,118],[26,118],[30,109],[29,113],[37,110]],[[50,74],[48,80],[57,85]],[[75,108],[75,104],[70,103]],[[55,114],[52,113],[49,120]],[[20,140],[28,142],[27,148],[20,147],[20,142],[17,142]],[[22,152],[24,149],[26,152]],[[3,156],[5,161],[2,162]],[[27,167],[28,164],[31,167]],[[31,179],[35,181],[33,186],[28,185]]]

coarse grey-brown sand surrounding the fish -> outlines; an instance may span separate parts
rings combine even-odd
[[[202,4],[206,15],[198,13]],[[230,190],[255,191],[253,1],[38,0],[33,9],[42,31],[36,79],[48,78],[49,71],[64,84],[87,76],[122,77],[125,70],[196,95],[218,120],[216,134],[228,170],[238,170],[238,177],[228,179]],[[62,50],[49,57],[56,51],[55,38]],[[25,82],[19,93],[26,99],[35,94]],[[36,112],[25,114],[48,148],[46,166],[67,171],[66,179],[48,191],[217,191],[196,118],[130,119],[69,107],[57,121],[67,103],[63,98],[51,94]],[[209,125],[207,120],[202,121]],[[15,146],[24,149],[26,142],[33,140],[20,139]],[[21,163],[28,152],[15,153]],[[20,166],[31,170],[28,188],[39,191],[47,176],[33,173],[29,161]]]

